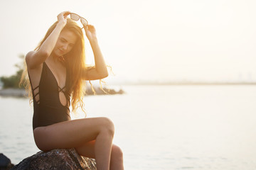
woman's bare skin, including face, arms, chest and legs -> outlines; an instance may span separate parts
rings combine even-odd
[[[53,73],[58,86],[65,86],[66,68],[59,58],[70,52],[77,37],[70,30],[63,30],[69,12],[58,15],[58,25],[37,51],[28,52],[26,64],[31,77],[32,87],[38,86],[43,62]],[[63,30],[63,31],[62,31]],[[107,68],[97,43],[95,28],[88,25],[85,33],[95,55],[95,68],[90,69],[84,79],[107,77]],[[36,91],[34,91],[36,93]],[[40,96],[36,96],[38,100]],[[67,99],[59,93],[60,103],[65,106]],[[84,157],[95,158],[97,169],[124,169],[122,150],[112,145],[114,125],[108,118],[82,118],[37,127],[33,130],[34,140],[39,149],[48,151],[57,148],[75,148]]]

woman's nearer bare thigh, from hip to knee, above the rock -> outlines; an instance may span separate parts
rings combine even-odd
[[[95,140],[102,128],[114,131],[114,125],[108,118],[83,118],[38,127],[33,135],[37,147],[47,151],[77,147]]]

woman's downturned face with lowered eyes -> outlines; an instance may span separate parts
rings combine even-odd
[[[63,56],[72,50],[77,40],[75,33],[70,30],[63,30],[56,42],[53,52],[56,56]]]

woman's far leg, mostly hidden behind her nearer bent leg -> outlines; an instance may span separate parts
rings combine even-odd
[[[75,147],[78,154],[84,157],[95,158],[95,141],[87,142],[79,147]],[[117,145],[112,145],[110,156],[110,170],[123,170],[123,154]]]

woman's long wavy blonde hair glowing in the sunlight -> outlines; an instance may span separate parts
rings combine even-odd
[[[43,38],[43,40],[41,40],[41,42],[39,42],[39,44],[35,48],[35,50],[39,50],[39,48],[41,47],[43,42],[48,38],[50,33],[53,32],[53,30],[57,26],[57,23],[58,23],[58,21],[56,21],[55,23],[53,23],[52,26],[50,26],[45,37]],[[78,107],[81,107],[82,111],[85,112],[85,110],[83,108],[84,103],[82,101],[82,98],[83,98],[83,96],[85,96],[86,84],[85,84],[85,81],[83,81],[83,79],[82,79],[82,71],[83,71],[83,69],[86,69],[89,67],[86,67],[86,64],[85,64],[84,36],[83,36],[82,29],[80,28],[80,26],[78,26],[78,24],[75,23],[75,21],[71,20],[70,18],[67,18],[67,23],[66,23],[65,27],[63,28],[63,30],[70,30],[73,33],[75,33],[75,35],[78,37],[72,50],[70,52],[68,52],[68,54],[64,55],[63,57],[64,57],[64,62],[65,62],[65,67],[67,68],[68,73],[69,73],[67,75],[68,79],[70,80],[70,84],[69,84],[70,86],[68,87],[68,89],[70,89],[70,94],[72,96],[71,106],[73,108],[73,112],[75,113],[75,111],[77,110]],[[100,79],[100,88],[102,89],[101,82],[105,83],[105,81],[102,81]],[[30,84],[30,81],[28,78],[27,67],[25,67],[25,69],[23,70],[20,84],[23,84],[23,86],[25,87],[25,89],[27,91],[28,97],[30,98],[30,101],[32,102],[33,97],[32,97],[32,93],[31,93],[31,84]],[[91,82],[90,82],[90,84],[91,84]],[[93,89],[92,84],[91,84],[91,88],[92,88],[93,93],[95,94],[95,90]],[[105,93],[107,93],[107,92],[105,91]]]

